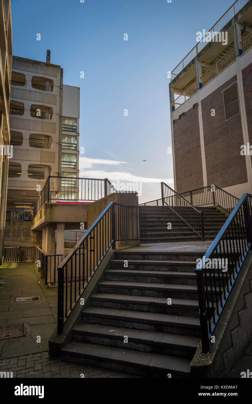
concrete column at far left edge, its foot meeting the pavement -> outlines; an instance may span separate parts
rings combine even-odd
[[[5,229],[5,210],[7,198],[7,183],[8,183],[8,156],[3,156],[2,173],[1,173],[1,199],[0,199],[0,265],[2,265],[4,256],[4,229]]]

